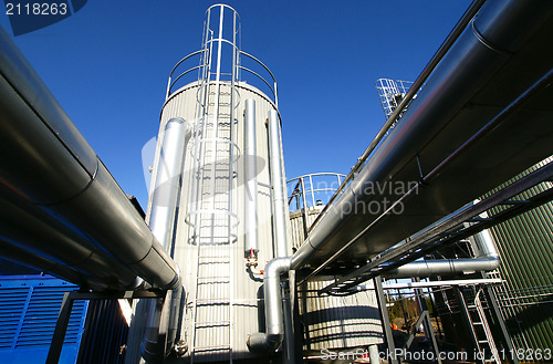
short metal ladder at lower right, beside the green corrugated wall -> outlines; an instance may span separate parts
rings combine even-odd
[[[477,360],[487,363],[501,364],[501,357],[495,346],[493,335],[486,318],[484,306],[482,304],[481,293],[482,289],[479,288],[477,293],[469,299],[469,294],[461,293],[461,299],[468,309],[468,319],[470,321],[470,331],[472,334],[472,341],[476,345],[477,353],[480,353]],[[473,293],[473,292],[472,292]]]

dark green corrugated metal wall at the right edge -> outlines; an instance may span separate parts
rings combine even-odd
[[[552,162],[553,157],[550,157],[518,178]],[[510,183],[512,180],[505,185]],[[518,198],[529,198],[549,187],[541,184]],[[495,208],[492,215],[500,210],[501,207]],[[490,231],[501,254],[500,271],[505,280],[495,289],[498,303],[514,345],[531,350],[552,349],[553,202],[500,223]]]

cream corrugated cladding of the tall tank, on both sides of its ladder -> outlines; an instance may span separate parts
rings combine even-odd
[[[166,103],[161,112],[160,133],[165,128],[165,123],[171,117],[182,117],[186,121],[195,124],[198,121],[197,113],[197,92],[199,85],[197,83],[189,84],[182,87],[179,92],[175,93],[171,98]],[[253,98],[255,101],[255,125],[257,125],[257,153],[258,153],[258,238],[259,238],[259,262],[260,269],[263,269],[265,263],[273,258],[273,228],[272,228],[272,204],[271,204],[271,189],[269,175],[269,147],[268,147],[268,129],[265,121],[270,110],[274,110],[272,102],[257,89],[240,83],[237,87],[239,92],[238,106],[236,107],[236,143],[239,148],[239,155],[243,152],[243,112],[244,101]],[[161,138],[160,134],[160,138]],[[233,206],[238,219],[233,233],[237,235],[237,240],[229,245],[212,245],[206,249],[202,248],[202,254],[210,253],[215,257],[228,257],[229,253],[233,259],[233,269],[229,273],[228,264],[222,260],[218,262],[212,260],[209,264],[202,263],[198,270],[197,263],[197,246],[192,242],[194,229],[186,219],[189,217],[190,209],[190,195],[192,188],[192,153],[194,153],[194,137],[188,143],[186,150],[184,174],[182,174],[182,190],[180,196],[180,205],[178,211],[178,222],[176,232],[176,249],[175,260],[180,267],[181,278],[185,289],[187,290],[187,304],[186,314],[182,322],[184,339],[190,342],[192,333],[192,299],[195,297],[196,274],[207,277],[226,277],[230,274],[232,280],[232,316],[233,327],[230,333],[225,325],[211,324],[196,331],[197,346],[217,346],[223,345],[229,341],[229,335],[232,336],[232,350],[234,358],[252,357],[247,347],[247,339],[249,334],[263,331],[264,327],[260,325],[263,322],[263,295],[261,293],[262,277],[252,275],[248,272],[244,259],[244,181],[243,181],[243,163],[241,158],[237,158],[236,168],[237,177],[233,181]],[[159,148],[159,145],[158,145]],[[156,153],[156,155],[158,155]],[[155,162],[157,164],[157,160]],[[156,170],[156,166],[154,166]],[[220,185],[218,185],[220,186]],[[225,186],[217,187],[218,196],[228,194],[225,191]],[[221,196],[221,198],[225,196]],[[226,227],[225,227],[226,229]],[[225,231],[217,231],[215,233],[223,235]],[[229,251],[230,249],[230,251]],[[290,251],[290,254],[292,251]],[[213,299],[229,295],[229,285],[222,281],[212,280],[199,285],[198,291],[202,297],[211,297]],[[201,316],[197,321],[201,322],[222,322],[228,316],[225,305],[212,305],[208,311],[202,310]],[[212,355],[206,353],[204,358],[200,355],[195,356],[195,362],[225,360],[225,355]]]

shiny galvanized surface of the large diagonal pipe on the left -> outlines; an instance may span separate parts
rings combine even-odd
[[[86,288],[132,289],[136,275],[174,285],[171,259],[3,30],[0,48],[0,200],[29,216],[2,238],[34,257],[44,251],[51,262],[74,271],[66,279]],[[54,249],[21,227],[41,216],[46,218],[40,229]],[[24,261],[34,262],[40,261]]]

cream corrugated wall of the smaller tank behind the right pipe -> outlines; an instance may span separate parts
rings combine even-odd
[[[323,206],[307,208],[310,226]],[[304,241],[302,211],[290,214],[293,247]],[[319,297],[316,291],[332,283],[319,280],[299,289],[300,314],[304,327],[304,350],[345,349],[384,342],[380,313],[372,290],[348,297]],[[367,282],[367,287],[371,288]]]

